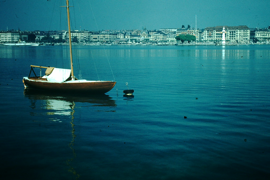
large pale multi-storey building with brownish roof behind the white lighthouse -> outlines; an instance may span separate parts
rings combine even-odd
[[[249,43],[250,29],[248,26],[215,26],[203,30],[203,41],[220,42],[222,40],[223,27],[226,30],[227,43]]]

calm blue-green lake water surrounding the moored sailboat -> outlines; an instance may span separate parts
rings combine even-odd
[[[24,91],[67,48],[0,46],[1,179],[270,177],[269,45],[76,46],[75,76],[111,91]]]

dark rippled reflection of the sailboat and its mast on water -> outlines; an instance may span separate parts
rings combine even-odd
[[[37,91],[33,89],[25,89],[25,97],[28,97],[31,101],[32,109],[44,108],[49,110],[46,115],[55,115],[57,118],[49,118],[52,121],[62,122],[62,118],[59,116],[70,116],[70,124],[72,127],[71,136],[72,140],[69,143],[69,148],[72,151],[73,157],[66,160],[66,164],[69,167],[68,171],[71,172],[76,179],[80,177],[80,174],[77,173],[76,169],[72,166],[72,161],[76,158],[76,153],[74,147],[75,142],[75,104],[76,103],[89,103],[89,106],[106,106],[106,107],[116,107],[115,100],[109,95],[99,94],[99,95],[86,95],[86,94],[65,94],[57,92],[46,92],[46,91]],[[85,106],[84,106],[85,107]],[[35,114],[33,114],[35,116]],[[55,117],[53,116],[53,117]],[[63,118],[66,119],[66,118]]]

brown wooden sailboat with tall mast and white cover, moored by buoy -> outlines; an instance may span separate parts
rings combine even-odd
[[[60,69],[54,67],[34,66],[30,65],[31,70],[28,77],[23,77],[23,84],[25,88],[45,90],[45,91],[59,91],[59,92],[79,92],[79,93],[98,93],[104,94],[113,89],[116,81],[91,81],[79,80],[73,74],[72,62],[72,45],[70,33],[70,18],[69,18],[69,1],[66,0],[68,14],[68,30],[69,30],[69,52],[70,52],[70,67],[71,69]],[[37,76],[33,68],[40,68],[40,76]],[[45,68],[45,75],[41,76],[41,69]],[[35,76],[30,77],[31,72]]]

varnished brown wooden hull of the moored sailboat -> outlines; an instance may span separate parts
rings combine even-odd
[[[59,83],[37,77],[23,77],[23,83],[25,88],[37,90],[104,94],[113,89],[116,81],[74,80]]]

